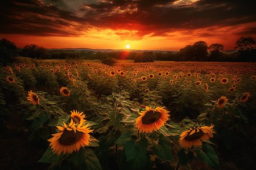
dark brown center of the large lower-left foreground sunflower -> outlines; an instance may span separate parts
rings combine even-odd
[[[62,145],[73,145],[78,142],[82,138],[81,131],[73,131],[73,130],[64,130],[63,134],[59,138],[59,142]]]

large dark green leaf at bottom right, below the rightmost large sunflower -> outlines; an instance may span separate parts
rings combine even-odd
[[[203,150],[201,150],[200,147],[196,147],[197,158],[208,164],[211,168],[219,169],[218,157],[214,148],[207,143],[204,143],[202,146]]]

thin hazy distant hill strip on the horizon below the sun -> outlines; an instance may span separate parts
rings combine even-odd
[[[167,52],[172,52],[172,53],[177,53],[177,51],[167,51],[167,50],[134,50],[134,49],[92,49],[92,48],[51,48],[47,50],[88,50],[88,51],[93,51],[93,52],[119,52],[119,51],[129,51],[129,52],[161,52],[161,53],[167,53]]]

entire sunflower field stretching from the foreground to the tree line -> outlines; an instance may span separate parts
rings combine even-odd
[[[21,59],[0,69],[0,169],[256,166],[255,63]]]

